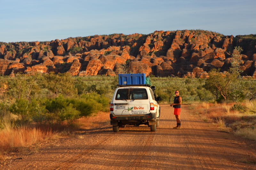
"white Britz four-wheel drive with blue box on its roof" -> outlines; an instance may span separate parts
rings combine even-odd
[[[145,73],[119,74],[119,85],[114,92],[110,103],[110,124],[113,131],[118,132],[125,125],[150,126],[151,131],[156,131],[159,126],[160,107],[156,97],[155,86],[145,82]],[[148,83],[148,82],[147,82]]]

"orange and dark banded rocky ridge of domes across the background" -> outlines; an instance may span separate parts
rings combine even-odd
[[[234,47],[243,48],[241,76],[256,77],[256,35],[225,36],[204,30],[111,34],[44,42],[0,42],[0,74],[64,73],[73,76],[146,73],[207,78],[227,71]]]

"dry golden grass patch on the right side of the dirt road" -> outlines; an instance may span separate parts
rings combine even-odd
[[[256,109],[254,105],[244,103],[243,105],[247,109],[238,111],[232,109],[234,104],[236,103],[199,103],[191,108],[196,110],[196,113],[205,122],[210,119],[221,129],[228,128],[235,135],[256,140]]]

